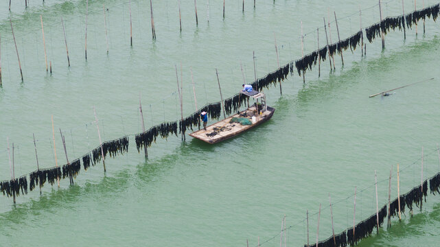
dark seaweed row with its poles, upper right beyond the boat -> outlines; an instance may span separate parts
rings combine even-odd
[[[380,6],[380,5],[379,5]],[[426,8],[423,8],[421,10],[415,10],[413,12],[410,12],[409,14],[402,14],[400,16],[393,16],[393,17],[386,17],[385,19],[382,19],[382,11],[380,14],[380,22],[375,23],[369,27],[365,28],[365,34],[367,35],[367,39],[370,43],[373,42],[373,40],[378,37],[382,36],[382,49],[385,48],[385,34],[389,33],[391,30],[395,30],[398,28],[399,30],[404,31],[404,38],[406,38],[406,28],[412,28],[413,25],[415,25],[416,35],[417,35],[417,23],[421,19],[424,21],[424,32],[425,32],[425,19],[431,18],[432,20],[436,21],[437,16],[439,16],[440,11],[440,3],[437,3],[432,6],[428,6]],[[336,27],[338,27],[338,22],[336,19],[335,14],[335,21],[336,21]],[[328,27],[330,27],[330,22],[328,22]],[[340,58],[342,60],[342,64],[344,64],[344,58],[343,58],[343,50],[347,50],[348,48],[351,49],[353,52],[356,47],[360,44],[360,47],[362,49],[361,54],[364,56],[367,54],[367,44],[365,44],[364,47],[364,41],[363,41],[363,32],[362,27],[359,32],[356,34],[350,36],[349,38],[346,38],[345,40],[340,40],[329,44],[328,36],[327,36],[327,24],[325,23],[324,19],[324,29],[325,29],[325,36],[327,38],[327,45],[321,49],[317,49],[315,51],[312,51],[310,54],[307,54],[305,56],[302,56],[299,60],[295,61],[295,67],[297,68],[299,76],[301,76],[301,72],[303,75],[303,82],[305,82],[305,71],[310,70],[312,71],[312,67],[316,66],[316,63],[318,63],[318,75],[321,75],[321,60],[325,61],[327,54],[329,57],[329,64],[330,64],[330,70],[336,69],[334,66],[334,55],[336,52],[340,54]],[[319,47],[319,28],[317,29],[318,32],[318,47]],[[339,30],[338,30],[338,37],[339,37]],[[301,36],[301,43],[303,43],[303,36]],[[333,60],[333,65],[332,65]],[[293,65],[293,64],[292,64]]]

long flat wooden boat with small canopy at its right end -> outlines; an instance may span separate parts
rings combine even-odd
[[[215,124],[207,126],[206,130],[197,130],[189,135],[210,144],[218,143],[220,141],[235,137],[242,132],[250,130],[251,128],[255,128],[256,126],[263,124],[265,121],[268,121],[268,119],[272,117],[273,113],[275,112],[275,108],[266,105],[266,95],[264,95],[264,93],[258,91],[241,91],[240,93],[256,99],[255,104],[249,106],[246,108],[246,110],[243,110],[240,113],[234,114],[226,119],[216,122]],[[261,99],[261,104],[258,104],[258,99]],[[259,108],[258,114],[257,106]],[[239,123],[231,123],[231,119],[234,117],[246,117],[251,120],[252,124],[242,125]]]

